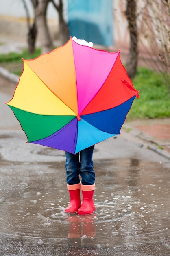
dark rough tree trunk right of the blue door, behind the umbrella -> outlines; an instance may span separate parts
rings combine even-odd
[[[136,1],[126,0],[126,18],[128,20],[128,28],[130,33],[130,49],[128,59],[126,63],[126,71],[129,77],[132,79],[137,71],[138,62],[138,34],[136,24]]]

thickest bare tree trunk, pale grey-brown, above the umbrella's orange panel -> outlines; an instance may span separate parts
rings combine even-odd
[[[50,0],[31,0],[35,9],[36,26],[41,40],[42,53],[52,51],[52,39],[46,21],[46,10]]]

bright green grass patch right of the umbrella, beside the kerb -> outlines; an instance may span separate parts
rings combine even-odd
[[[133,101],[127,120],[170,117],[170,97],[160,72],[139,67],[133,85],[140,98]]]

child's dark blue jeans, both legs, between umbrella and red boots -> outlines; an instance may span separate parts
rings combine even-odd
[[[83,185],[92,185],[95,180],[95,173],[93,169],[93,150],[94,146],[85,148],[80,152],[73,155],[72,153],[65,152],[66,162],[66,175],[67,183],[69,185],[78,184],[80,182],[79,175]],[[79,161],[80,155],[80,161]]]

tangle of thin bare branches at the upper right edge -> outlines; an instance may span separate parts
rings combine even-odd
[[[169,0],[144,0],[139,43],[150,68],[162,72],[170,94],[170,4]],[[152,64],[151,64],[152,63]]]

